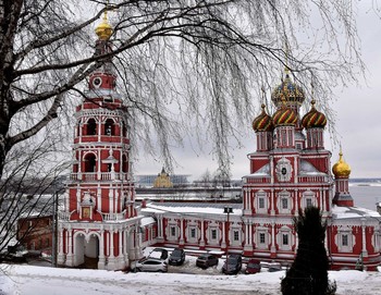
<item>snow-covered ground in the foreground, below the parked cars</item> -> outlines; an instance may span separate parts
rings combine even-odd
[[[125,273],[122,271],[63,269],[20,265],[0,265],[0,294],[3,295],[274,295],[280,294],[284,271],[223,275],[219,266],[201,270],[194,257],[170,273]],[[188,271],[197,274],[173,273]],[[331,271],[337,295],[381,294],[381,272]]]

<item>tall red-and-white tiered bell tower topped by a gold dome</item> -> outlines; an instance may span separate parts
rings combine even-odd
[[[58,263],[97,260],[99,269],[123,269],[138,256],[139,218],[131,173],[126,107],[116,91],[107,13],[97,26],[96,54],[103,63],[88,77],[75,109],[73,164],[59,214]]]

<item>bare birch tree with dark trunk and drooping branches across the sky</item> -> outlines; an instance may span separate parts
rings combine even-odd
[[[86,77],[109,58],[135,145],[171,162],[170,145],[197,134],[200,145],[210,138],[220,168],[229,170],[230,140],[239,142],[259,106],[259,89],[279,82],[285,65],[299,83],[314,81],[322,103],[331,87],[356,79],[364,65],[353,5],[0,0],[0,176],[9,174],[17,145],[38,145],[49,125],[70,121],[71,99],[82,99]],[[94,28],[106,10],[113,48],[96,56]]]

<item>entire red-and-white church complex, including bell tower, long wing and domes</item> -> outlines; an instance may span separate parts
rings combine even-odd
[[[96,33],[96,52],[107,53],[112,34],[107,15]],[[262,105],[253,122],[256,150],[248,155],[243,202],[229,207],[135,204],[126,111],[115,81],[109,60],[89,75],[86,99],[76,107],[72,173],[59,214],[59,265],[93,258],[99,269],[124,269],[153,245],[290,263],[298,246],[293,218],[308,206],[319,207],[327,221],[332,269],[380,265],[381,216],[355,207],[342,151],[331,174],[325,115],[314,99],[300,114],[306,95],[287,72],[271,95],[275,112]]]

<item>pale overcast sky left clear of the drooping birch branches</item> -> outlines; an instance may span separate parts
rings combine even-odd
[[[381,20],[380,15],[371,10],[371,2],[361,1],[357,12],[367,79],[360,79],[360,85],[337,88],[336,101],[332,106],[337,114],[337,139],[342,144],[344,159],[352,168],[351,177],[381,177]],[[251,122],[248,122],[246,127],[251,131]],[[328,132],[325,133],[328,135]],[[245,146],[235,149],[233,153],[233,179],[241,179],[249,173],[246,155],[256,149],[254,131],[243,143]],[[340,147],[327,136],[325,148],[332,151],[331,162],[335,163]],[[190,148],[174,149],[174,156],[181,164],[174,168],[174,173],[190,174],[192,180],[198,179],[207,169],[210,172],[217,169],[217,162],[211,155],[197,156]],[[157,174],[161,168],[162,163],[142,157],[135,163],[135,173]]]

